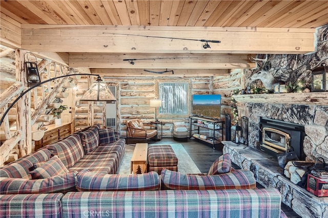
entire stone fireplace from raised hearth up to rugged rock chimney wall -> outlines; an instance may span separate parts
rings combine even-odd
[[[328,64],[328,26],[317,29],[316,34],[317,47],[314,53],[259,55],[258,58],[270,61],[272,68],[269,73],[277,81],[285,82],[286,85],[293,82],[311,83],[311,69],[319,67],[321,63]],[[264,85],[262,79],[265,78],[253,76],[258,71],[262,72],[259,69],[247,69],[243,72],[242,89]],[[263,138],[261,121],[286,122],[303,128],[304,135],[299,141],[303,144],[299,151],[301,159],[315,161],[322,157],[328,163],[328,92],[236,95],[234,99],[239,117],[249,118],[249,144],[245,146],[230,141],[222,142],[223,153],[229,153],[232,162],[240,168],[251,170],[262,186],[277,188],[282,202],[300,216],[328,217],[328,197],[318,198],[292,183],[283,175],[277,158],[260,150]],[[282,132],[286,133],[284,130]],[[272,134],[271,137],[276,137],[275,141],[280,139],[279,135]],[[279,143],[275,145],[279,146]]]

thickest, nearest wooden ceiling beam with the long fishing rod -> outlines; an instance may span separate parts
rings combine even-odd
[[[22,25],[22,48],[48,52],[304,54],[314,51],[314,32],[302,28]],[[221,43],[209,42],[211,48],[204,49],[200,39]]]

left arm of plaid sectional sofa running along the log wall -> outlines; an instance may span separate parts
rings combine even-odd
[[[3,166],[0,168],[0,216],[61,217],[61,198],[68,191],[76,191],[77,173],[83,169],[116,173],[124,154],[125,139],[120,139],[113,129],[93,125]],[[65,166],[69,172],[32,179],[32,171],[45,167],[55,157],[63,166],[50,165],[52,170],[43,168],[43,171]]]

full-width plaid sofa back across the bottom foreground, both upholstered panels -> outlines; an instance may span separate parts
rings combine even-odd
[[[1,195],[0,217],[286,217],[277,189]]]

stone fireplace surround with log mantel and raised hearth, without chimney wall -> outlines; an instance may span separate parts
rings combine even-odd
[[[239,102],[240,116],[249,118],[249,146],[223,142],[223,153],[231,154],[232,161],[240,168],[251,170],[262,186],[277,188],[281,192],[282,202],[300,216],[328,217],[328,197],[318,198],[286,178],[277,158],[260,150],[262,133],[259,130],[263,127],[263,120],[302,126],[305,160],[315,161],[317,157],[322,157],[327,163],[328,93],[262,94],[258,98],[250,95],[251,99],[245,99],[245,95],[239,96],[241,98],[236,97],[236,100]],[[305,99],[312,100],[307,102]],[[290,103],[283,103],[286,101]]]

